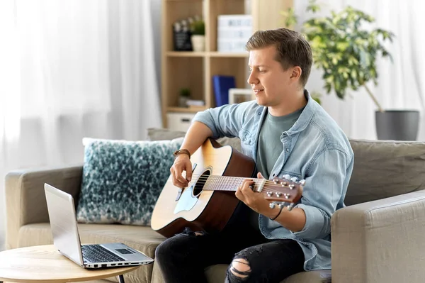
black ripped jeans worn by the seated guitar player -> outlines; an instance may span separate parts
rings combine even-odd
[[[242,278],[228,268],[225,282],[280,282],[304,270],[304,253],[295,240],[268,240],[257,231],[235,235],[241,234],[196,235],[186,228],[165,240],[155,252],[165,282],[206,283],[205,267],[216,264],[230,267],[237,258],[246,260],[251,270]]]

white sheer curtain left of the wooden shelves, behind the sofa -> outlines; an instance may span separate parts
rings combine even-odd
[[[150,4],[0,1],[2,180],[18,168],[81,163],[84,136],[142,140],[162,125]],[[4,207],[3,182],[0,193]]]

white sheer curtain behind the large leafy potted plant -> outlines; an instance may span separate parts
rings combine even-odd
[[[392,44],[387,44],[393,57],[378,60],[378,86],[368,87],[377,96],[385,109],[415,109],[421,111],[418,140],[425,140],[425,57],[423,46],[425,34],[425,2],[420,0],[318,0],[322,11],[305,13],[308,0],[294,1],[299,23],[312,16],[327,16],[329,11],[341,11],[350,5],[370,14],[376,20],[373,27],[384,28],[395,33]],[[325,94],[321,73],[313,70],[307,83],[310,91]],[[364,89],[351,91],[344,101],[335,94],[324,95],[324,109],[339,123],[350,138],[376,139],[375,104]]]

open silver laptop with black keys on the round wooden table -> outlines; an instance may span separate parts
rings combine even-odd
[[[53,243],[69,260],[84,268],[148,265],[154,260],[123,243],[81,245],[74,199],[70,194],[45,184],[47,211]]]

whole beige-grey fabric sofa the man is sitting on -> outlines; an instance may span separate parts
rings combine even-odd
[[[151,140],[184,135],[150,129]],[[236,139],[222,144],[239,148]],[[344,209],[331,218],[332,270],[302,272],[295,282],[424,282],[425,143],[351,140],[355,163]],[[77,198],[81,165],[17,170],[6,176],[6,248],[52,243],[43,184]],[[164,240],[150,227],[79,224],[82,243],[120,241],[154,257]],[[211,283],[223,282],[226,265],[208,267]],[[111,278],[115,281],[115,278]],[[106,282],[106,281],[98,281]],[[125,282],[163,282],[157,265],[125,274]]]

